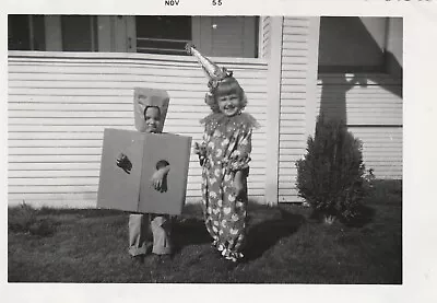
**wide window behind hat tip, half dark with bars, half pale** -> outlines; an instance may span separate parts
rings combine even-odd
[[[137,53],[186,55],[192,42],[205,56],[258,57],[258,16],[135,16]]]

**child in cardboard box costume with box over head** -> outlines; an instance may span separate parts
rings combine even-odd
[[[138,131],[105,129],[97,206],[133,212],[129,254],[140,263],[150,250],[172,254],[169,215],[180,214],[186,197],[191,138],[156,135],[163,131],[168,102],[165,91],[137,88]]]

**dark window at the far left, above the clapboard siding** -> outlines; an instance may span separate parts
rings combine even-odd
[[[8,49],[45,50],[43,15],[8,15]]]

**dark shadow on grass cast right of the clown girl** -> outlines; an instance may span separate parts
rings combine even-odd
[[[295,232],[306,222],[305,217],[277,209],[280,218],[261,221],[249,226],[245,247],[245,260],[253,260],[273,247],[281,238]]]

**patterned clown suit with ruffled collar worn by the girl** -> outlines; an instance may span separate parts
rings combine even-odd
[[[238,196],[233,184],[237,171],[246,177],[249,174],[252,127],[247,116],[213,114],[204,120],[201,161],[204,222],[213,245],[232,260],[243,257],[245,242],[247,183]]]

